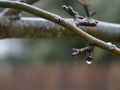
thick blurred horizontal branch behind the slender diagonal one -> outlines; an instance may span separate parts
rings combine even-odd
[[[73,23],[73,19],[65,19]],[[4,27],[4,28],[2,28]],[[9,35],[4,31],[9,29]],[[120,25],[99,21],[96,27],[83,27],[82,30],[96,38],[107,42],[120,42]],[[19,29],[19,30],[17,30]],[[0,24],[0,38],[58,38],[58,39],[77,39],[75,34],[68,29],[42,18],[22,17],[20,20],[13,20],[10,25]],[[107,35],[106,35],[107,33]]]

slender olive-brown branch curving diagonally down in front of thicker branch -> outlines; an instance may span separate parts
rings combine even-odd
[[[103,48],[107,51],[110,51],[110,52],[120,56],[119,48],[117,48],[116,46],[114,46],[110,43],[106,43],[102,40],[99,40],[99,39],[89,35],[88,33],[82,31],[80,28],[76,27],[74,24],[71,24],[70,22],[65,21],[60,16],[57,16],[55,14],[44,11],[42,9],[30,6],[25,3],[14,2],[14,1],[0,1],[0,7],[21,9],[21,10],[27,11],[29,13],[32,13],[36,16],[50,20],[54,23],[57,23],[65,28],[69,29],[70,31],[75,33],[78,37],[81,37],[88,43],[98,46],[100,48]]]

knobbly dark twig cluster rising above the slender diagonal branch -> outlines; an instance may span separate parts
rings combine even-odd
[[[95,11],[89,11],[89,5],[87,2],[83,2],[81,0],[78,0],[78,2],[83,6],[85,12],[86,12],[86,17],[81,16],[77,11],[75,11],[71,6],[66,6],[63,5],[62,8],[68,12],[74,19],[76,26],[90,26],[94,27],[97,25],[97,21],[92,19],[92,17],[96,14]]]

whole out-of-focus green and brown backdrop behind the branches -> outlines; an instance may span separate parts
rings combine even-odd
[[[120,0],[87,1],[97,11],[94,18],[120,23]],[[77,0],[40,0],[34,6],[70,18],[64,4],[85,15]],[[87,65],[85,55],[71,56],[72,48],[85,45],[77,40],[1,39],[0,90],[120,90],[120,57],[95,47],[93,63]]]

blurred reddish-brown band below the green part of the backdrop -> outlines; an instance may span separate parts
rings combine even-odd
[[[120,90],[120,65],[1,66],[0,90]]]

